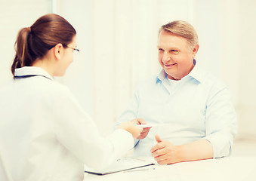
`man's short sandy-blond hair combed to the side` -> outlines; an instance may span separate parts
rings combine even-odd
[[[162,30],[186,38],[191,49],[193,49],[194,46],[199,42],[196,29],[194,29],[190,23],[183,20],[172,21],[171,23],[161,26],[159,29],[159,34]]]

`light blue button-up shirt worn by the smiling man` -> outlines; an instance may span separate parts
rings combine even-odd
[[[134,97],[117,124],[144,118],[152,127],[148,136],[137,140],[134,156],[150,156],[155,135],[174,145],[205,139],[211,142],[214,158],[230,155],[236,135],[236,113],[230,90],[208,72],[196,66],[180,81],[168,81],[162,69],[135,90]]]

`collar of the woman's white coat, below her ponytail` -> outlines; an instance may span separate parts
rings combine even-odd
[[[42,69],[37,66],[23,66],[21,68],[15,69],[14,76],[16,77],[23,77],[23,76],[43,76],[45,78],[49,78],[53,80],[50,74],[45,71],[45,69]]]

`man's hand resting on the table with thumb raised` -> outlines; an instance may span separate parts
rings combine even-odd
[[[178,147],[156,135],[156,146],[150,149],[151,155],[159,164],[174,164],[180,162]]]

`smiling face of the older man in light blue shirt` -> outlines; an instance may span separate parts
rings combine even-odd
[[[195,48],[190,48],[186,38],[162,30],[157,48],[159,63],[165,69],[168,78],[180,80],[193,69],[193,58],[196,56],[199,45],[196,44]]]

